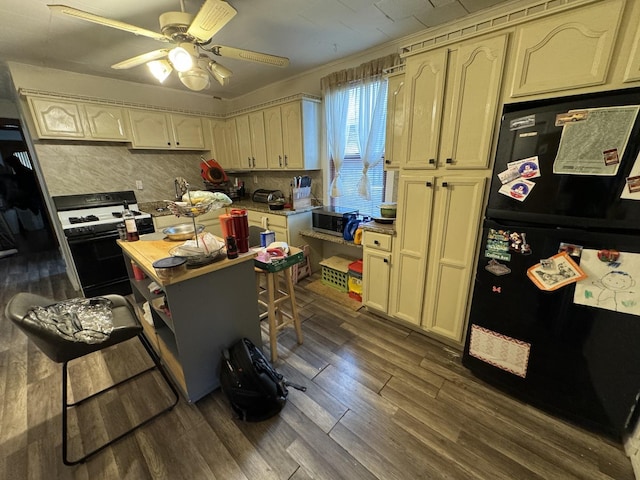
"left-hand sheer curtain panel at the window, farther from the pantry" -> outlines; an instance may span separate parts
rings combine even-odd
[[[344,162],[347,146],[347,111],[349,109],[349,86],[331,85],[324,91],[324,114],[327,126],[329,156],[333,160],[334,177],[329,187],[329,195],[342,195],[340,170]]]

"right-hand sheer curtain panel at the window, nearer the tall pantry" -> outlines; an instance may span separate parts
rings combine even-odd
[[[358,182],[358,194],[371,200],[371,182],[367,172],[382,161],[384,152],[387,80],[365,79],[358,89],[358,144],[362,158],[362,178]]]

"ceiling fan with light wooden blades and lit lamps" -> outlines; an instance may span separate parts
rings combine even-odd
[[[111,68],[115,69],[128,69],[146,64],[154,77],[161,83],[175,69],[180,81],[191,90],[200,91],[207,88],[211,76],[221,85],[227,85],[233,72],[216,62],[208,54],[276,67],[289,65],[289,59],[286,57],[214,44],[211,41],[212,37],[237,13],[231,5],[223,0],[205,0],[195,16],[185,12],[184,0],[180,0],[180,12],[165,12],[160,15],[160,31],[162,33],[94,15],[66,5],[47,6],[54,13],[117,28],[160,42],[175,44],[175,46],[167,46],[111,65]]]

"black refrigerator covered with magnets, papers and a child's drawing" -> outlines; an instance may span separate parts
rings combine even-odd
[[[640,89],[506,105],[463,354],[621,440],[640,395]]]

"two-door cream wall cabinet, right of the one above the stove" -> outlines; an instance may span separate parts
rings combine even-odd
[[[133,148],[204,150],[202,119],[194,115],[129,109]]]

